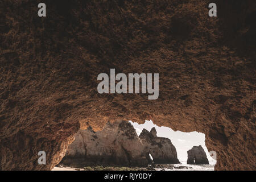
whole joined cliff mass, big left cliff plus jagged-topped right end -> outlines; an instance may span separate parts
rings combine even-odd
[[[149,154],[156,164],[176,164],[177,152],[168,138],[157,137],[155,128],[137,135],[127,121],[107,123],[103,130],[79,130],[62,164],[69,166],[147,166]]]

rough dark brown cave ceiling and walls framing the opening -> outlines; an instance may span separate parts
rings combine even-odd
[[[0,169],[51,169],[69,140],[118,118],[205,134],[217,170],[255,170],[255,4],[0,1]],[[159,98],[98,94],[97,76],[159,73]],[[47,165],[37,153],[47,153]]]

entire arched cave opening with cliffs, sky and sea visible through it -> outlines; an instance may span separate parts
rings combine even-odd
[[[120,120],[106,123],[100,131],[80,129],[58,167],[209,171],[215,164],[203,133]]]

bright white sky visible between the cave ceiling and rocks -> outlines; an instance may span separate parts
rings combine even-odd
[[[204,148],[205,153],[210,164],[215,164],[216,160],[210,157],[207,147],[205,146],[205,135],[193,131],[191,133],[185,133],[181,131],[174,131],[169,127],[159,127],[156,126],[152,121],[146,121],[144,124],[139,125],[138,123],[130,123],[134,126],[134,129],[139,135],[143,129],[150,131],[152,127],[155,127],[158,137],[169,138],[172,144],[175,146],[177,151],[177,158],[180,162],[187,162],[188,154],[187,151],[190,150],[193,146],[201,145]]]

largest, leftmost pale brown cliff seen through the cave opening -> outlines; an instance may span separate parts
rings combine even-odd
[[[143,144],[128,121],[107,123],[103,130],[79,130],[61,163],[146,167]],[[75,160],[75,161],[74,161]]]

